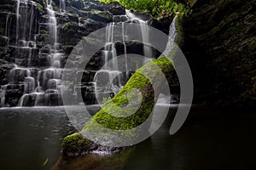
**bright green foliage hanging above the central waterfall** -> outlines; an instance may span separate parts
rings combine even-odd
[[[187,12],[186,5],[172,0],[101,0],[104,3],[119,2],[125,8],[147,12],[154,17],[163,18],[173,13],[183,15]]]

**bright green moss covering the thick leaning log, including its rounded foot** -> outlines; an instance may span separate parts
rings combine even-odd
[[[160,74],[164,73],[167,81],[170,82],[172,80],[172,71],[172,61],[166,57],[155,59],[138,69],[113,99],[104,100],[102,109],[85,124],[82,133],[89,134],[92,132],[93,134],[89,134],[92,135],[91,138],[98,139],[101,142],[106,139],[109,140],[109,134],[113,134],[111,140],[114,143],[135,139],[137,134],[140,133],[140,128],[133,127],[138,127],[148,117],[152,116],[154,99],[157,98],[155,94],[160,94],[161,89],[168,86],[168,84],[162,82]],[[157,89],[153,88],[152,83]],[[136,111],[133,104],[139,105]],[[99,125],[106,128],[102,128]],[[150,124],[146,124],[146,126],[150,126]],[[116,133],[117,131],[112,131],[112,129],[121,131]],[[129,131],[127,131],[128,129]],[[84,150],[84,144],[78,142],[81,138],[83,136],[79,133],[67,136],[62,144],[63,153],[79,153]],[[87,141],[85,139],[86,144]]]

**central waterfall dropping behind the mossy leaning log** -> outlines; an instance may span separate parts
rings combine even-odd
[[[129,12],[128,12],[129,13]],[[138,23],[141,27],[141,36],[143,39],[143,54],[147,58],[152,58],[152,49],[149,44],[148,37],[148,24],[144,20],[140,20],[134,14],[125,15],[113,15],[113,22],[109,23],[106,28],[106,44],[102,51],[105,65],[102,70],[97,71],[94,77],[96,98],[98,102],[102,102],[102,98],[113,97],[113,94],[117,94],[119,90],[125,85],[125,82],[129,79],[128,59],[127,59],[127,35],[125,22]],[[114,42],[115,26],[121,26],[122,44],[124,46],[124,60],[122,60],[122,66],[125,68],[125,73],[119,71],[119,62],[117,59],[117,52]],[[146,64],[148,59],[145,59],[143,64]],[[104,94],[104,95],[103,95]],[[102,97],[103,96],[103,97]]]

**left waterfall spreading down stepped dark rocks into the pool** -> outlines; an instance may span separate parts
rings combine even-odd
[[[49,42],[39,49],[39,54],[48,56],[49,68],[34,65],[38,54],[34,32],[36,29],[36,3],[17,0],[16,3],[16,42],[15,67],[9,71],[9,83],[1,86],[1,106],[61,105],[61,75],[63,52],[57,41],[57,20],[52,0],[46,1],[48,20],[40,23],[48,26]],[[61,11],[65,11],[65,1],[61,1]],[[9,15],[6,18],[5,35],[8,36]],[[39,27],[40,29],[40,27]],[[40,30],[39,30],[40,32]],[[26,62],[20,62],[20,59]],[[13,94],[12,94],[13,93]],[[10,97],[9,94],[12,94]]]

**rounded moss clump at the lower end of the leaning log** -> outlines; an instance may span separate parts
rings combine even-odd
[[[90,147],[90,140],[84,139],[80,133],[73,133],[63,139],[61,148],[64,155],[73,153],[81,154]]]

